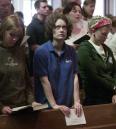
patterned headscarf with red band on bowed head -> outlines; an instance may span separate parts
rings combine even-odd
[[[97,29],[111,24],[112,21],[107,17],[93,16],[92,19],[88,22],[88,27],[91,32],[95,32]]]

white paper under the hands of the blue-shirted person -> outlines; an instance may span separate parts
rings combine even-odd
[[[86,124],[86,119],[83,111],[81,116],[78,117],[75,114],[75,111],[74,111],[75,109],[70,109],[70,110],[71,110],[70,116],[69,117],[65,116],[67,126]]]

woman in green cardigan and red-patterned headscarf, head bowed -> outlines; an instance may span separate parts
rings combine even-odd
[[[84,41],[78,50],[85,105],[116,103],[116,62],[104,44],[111,24],[106,17],[93,17],[89,22],[90,40]]]

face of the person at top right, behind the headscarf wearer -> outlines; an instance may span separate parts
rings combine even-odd
[[[88,4],[84,7],[84,9],[89,16],[93,16],[95,10],[95,4],[94,3]]]

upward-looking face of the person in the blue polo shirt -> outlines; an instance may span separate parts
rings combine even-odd
[[[58,19],[53,29],[53,40],[64,41],[67,37],[67,25],[62,19]]]

